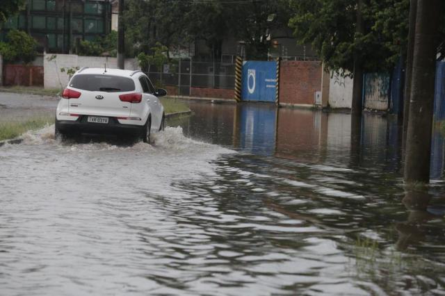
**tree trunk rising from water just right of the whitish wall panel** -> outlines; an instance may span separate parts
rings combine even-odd
[[[364,34],[364,22],[362,15],[363,0],[357,1],[357,29],[356,32]],[[363,90],[363,58],[362,54],[355,50],[354,53],[354,81],[353,81],[353,104],[351,114],[353,117],[362,116],[362,90]]]

